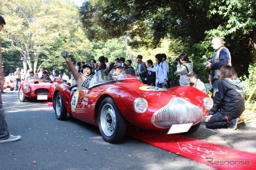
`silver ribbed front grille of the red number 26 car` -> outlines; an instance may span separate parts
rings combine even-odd
[[[169,128],[174,124],[198,123],[202,117],[203,112],[199,107],[180,97],[173,97],[152,115],[151,123],[156,127]]]

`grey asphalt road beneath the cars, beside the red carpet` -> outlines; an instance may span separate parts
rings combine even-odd
[[[22,138],[0,143],[0,170],[214,169],[129,136],[120,144],[107,143],[98,127],[70,117],[58,121],[52,107],[34,101],[20,103],[18,92],[2,94],[2,101],[9,132]],[[216,131],[205,130],[200,127],[192,137],[222,139]]]

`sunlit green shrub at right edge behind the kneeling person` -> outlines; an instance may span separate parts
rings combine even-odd
[[[256,85],[256,65],[250,65],[249,66],[249,76],[246,77],[240,77],[242,79],[242,85],[244,90],[244,97],[247,100],[250,94],[252,93],[252,90],[254,86]],[[251,101],[256,101],[256,91],[254,91],[254,94],[252,95]]]

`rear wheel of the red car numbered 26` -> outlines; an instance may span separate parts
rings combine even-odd
[[[55,116],[58,120],[64,121],[67,117],[67,110],[60,92],[56,94],[54,101]]]

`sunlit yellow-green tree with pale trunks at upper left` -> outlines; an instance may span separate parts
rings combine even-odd
[[[56,60],[63,49],[77,58],[89,53],[91,45],[80,27],[78,10],[69,2],[1,0],[0,6],[7,22],[4,36],[20,51],[24,71],[27,65],[35,71]]]

